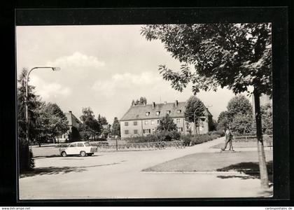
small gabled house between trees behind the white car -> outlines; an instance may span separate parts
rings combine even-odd
[[[69,122],[69,130],[59,137],[56,137],[55,141],[57,141],[57,143],[79,141],[80,139],[78,137],[78,128],[81,124],[80,120],[78,120],[78,118],[76,118],[76,116],[74,116],[71,111],[64,114],[67,118],[67,121]]]

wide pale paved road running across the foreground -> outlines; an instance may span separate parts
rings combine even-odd
[[[215,152],[210,147],[223,141],[220,138],[183,149],[38,158],[35,160],[38,175],[20,179],[20,199],[260,196],[260,181],[240,174],[232,174],[238,175],[237,178],[220,179],[217,173],[141,172],[184,155]]]

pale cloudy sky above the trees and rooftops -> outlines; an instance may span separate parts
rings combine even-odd
[[[17,69],[58,66],[61,71],[36,69],[30,85],[45,102],[80,116],[91,107],[95,116],[109,123],[121,118],[132,99],[144,96],[151,102],[185,102],[190,87],[177,92],[163,80],[158,65],[179,69],[181,63],[160,41],[146,41],[140,25],[17,27]],[[232,91],[197,94],[216,119],[234,96]]]

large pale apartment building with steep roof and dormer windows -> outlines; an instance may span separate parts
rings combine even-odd
[[[168,114],[174,119],[177,129],[182,134],[195,132],[194,123],[188,123],[185,120],[184,112],[186,110],[186,102],[174,102],[163,104],[144,104],[134,105],[120,119],[120,137],[139,137],[152,134],[156,131],[160,124],[160,118]],[[204,116],[201,116],[200,126],[197,127],[197,132],[205,134],[211,130],[212,115],[208,109],[204,111]]]

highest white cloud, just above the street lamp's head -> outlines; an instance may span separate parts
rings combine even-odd
[[[73,55],[59,57],[55,61],[47,63],[48,66],[58,66],[62,70],[87,70],[99,69],[105,66],[105,62],[100,61],[97,57],[84,55],[80,52],[74,52]]]

